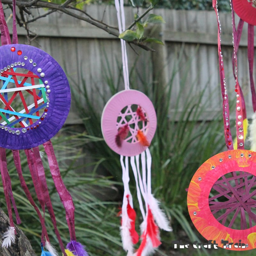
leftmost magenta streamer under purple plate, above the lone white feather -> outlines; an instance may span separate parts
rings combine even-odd
[[[3,181],[4,196],[5,196],[8,215],[10,219],[10,225],[11,227],[14,227],[14,223],[12,219],[12,206],[16,215],[17,224],[20,224],[21,221],[20,221],[18,210],[17,210],[17,206],[15,204],[15,200],[12,194],[11,178],[7,170],[7,160],[6,160],[6,154],[5,154],[4,148],[0,148],[0,169],[1,169],[1,176]],[[12,206],[11,206],[11,202],[12,202]]]

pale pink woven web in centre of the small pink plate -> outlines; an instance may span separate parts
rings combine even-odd
[[[142,117],[142,119],[145,119],[142,120],[141,117],[136,112],[138,107],[140,106],[136,104],[124,107],[119,113],[116,120],[117,130],[123,127],[125,124],[129,125],[129,133],[125,141],[130,143],[136,143],[138,141],[138,139],[136,138],[138,130],[142,131],[145,134],[148,129],[147,113],[143,108],[141,108],[144,116]]]

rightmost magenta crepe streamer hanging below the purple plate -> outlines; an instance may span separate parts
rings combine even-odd
[[[60,196],[60,200],[66,211],[66,220],[68,223],[70,240],[76,241],[76,232],[75,232],[75,206],[72,200],[70,193],[68,192],[66,186],[60,175],[60,169],[57,162],[57,159],[54,154],[52,147],[52,142],[49,140],[43,144],[45,153],[48,157],[50,171],[52,173],[52,179],[56,190]]]

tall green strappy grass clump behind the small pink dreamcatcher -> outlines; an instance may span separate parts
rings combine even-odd
[[[207,101],[206,103],[204,101],[207,85],[205,85],[203,90],[198,91],[195,97],[190,97],[189,93],[186,98],[182,95],[184,91],[188,90],[186,84],[189,81],[189,68],[192,65],[193,56],[184,63],[182,63],[181,56],[182,50],[166,85],[154,86],[152,81],[148,79],[150,74],[136,74],[136,63],[130,73],[130,77],[140,76],[143,86],[139,90],[149,96],[157,114],[158,125],[150,146],[152,155],[152,189],[154,189],[156,198],[162,202],[162,207],[170,218],[174,230],[172,233],[166,232],[162,235],[164,243],[159,253],[171,250],[171,240],[177,240],[182,236],[186,236],[186,239],[190,241],[199,240],[198,234],[192,228],[189,219],[186,188],[188,188],[189,182],[197,168],[209,157],[225,148],[225,141],[222,135],[223,121],[221,111],[217,112],[211,121],[202,119],[202,104],[204,104],[205,108],[207,107]],[[114,95],[121,90],[119,89],[120,79],[115,81],[111,75],[108,60],[104,61],[107,63],[105,70],[109,70],[109,73],[105,73],[105,86],[108,87],[111,95]],[[181,71],[179,67],[182,67],[183,77],[180,79],[178,86],[178,97],[174,99],[172,93],[177,87],[174,84],[174,80],[178,72]],[[122,74],[120,74],[119,78],[121,76]],[[190,81],[190,91],[193,91],[196,83],[198,83],[197,79]],[[130,81],[130,87],[131,89],[138,89],[137,84],[133,81]],[[73,99],[76,100],[79,114],[83,117],[85,131],[88,135],[99,138],[98,141],[86,144],[86,150],[92,153],[91,157],[97,163],[98,171],[105,170],[107,175],[112,176],[112,180],[121,182],[119,155],[113,152],[102,140],[100,129],[102,110],[99,111],[99,109],[95,108],[97,103],[91,100],[85,79],[82,80],[82,84],[79,84],[79,86],[74,83],[72,88]],[[180,102],[181,96],[183,97],[183,104]],[[81,97],[83,100],[81,100]],[[108,99],[105,99],[103,96],[100,97],[100,101],[104,103]],[[172,111],[170,111],[171,100],[175,100],[175,107]],[[130,184],[134,186],[134,182],[132,182],[130,180]],[[120,193],[119,198],[121,197],[122,193]],[[134,207],[138,208],[138,205]],[[167,255],[169,254],[167,253]]]

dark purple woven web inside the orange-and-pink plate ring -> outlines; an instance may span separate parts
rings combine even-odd
[[[230,172],[212,186],[212,214],[222,225],[247,229],[256,225],[256,177],[248,172]]]

